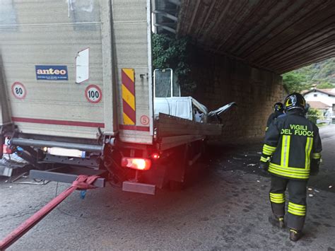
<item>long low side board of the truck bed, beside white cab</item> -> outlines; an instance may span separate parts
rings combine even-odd
[[[160,113],[156,121],[158,138],[177,135],[221,135],[222,124],[193,122]]]

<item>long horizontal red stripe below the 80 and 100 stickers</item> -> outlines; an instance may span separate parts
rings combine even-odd
[[[104,128],[104,123],[94,122],[81,122],[81,121],[69,121],[69,120],[55,120],[55,119],[32,119],[28,117],[11,117],[13,122],[25,122],[35,124],[59,124],[71,127],[101,127]]]

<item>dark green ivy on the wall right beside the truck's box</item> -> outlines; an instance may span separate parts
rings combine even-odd
[[[195,83],[189,77],[189,38],[175,35],[153,34],[153,69],[171,68],[182,90],[192,92]]]

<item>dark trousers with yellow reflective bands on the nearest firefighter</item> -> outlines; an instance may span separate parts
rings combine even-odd
[[[307,180],[290,180],[286,177],[271,175],[270,202],[276,217],[285,215],[285,191],[288,189],[288,228],[302,230],[306,216]]]

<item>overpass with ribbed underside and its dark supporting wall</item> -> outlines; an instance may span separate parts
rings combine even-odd
[[[208,107],[236,101],[225,139],[264,135],[271,106],[283,100],[283,74],[335,57],[335,1],[155,1],[158,32],[195,45],[193,95]],[[158,9],[160,8],[160,9]]]

